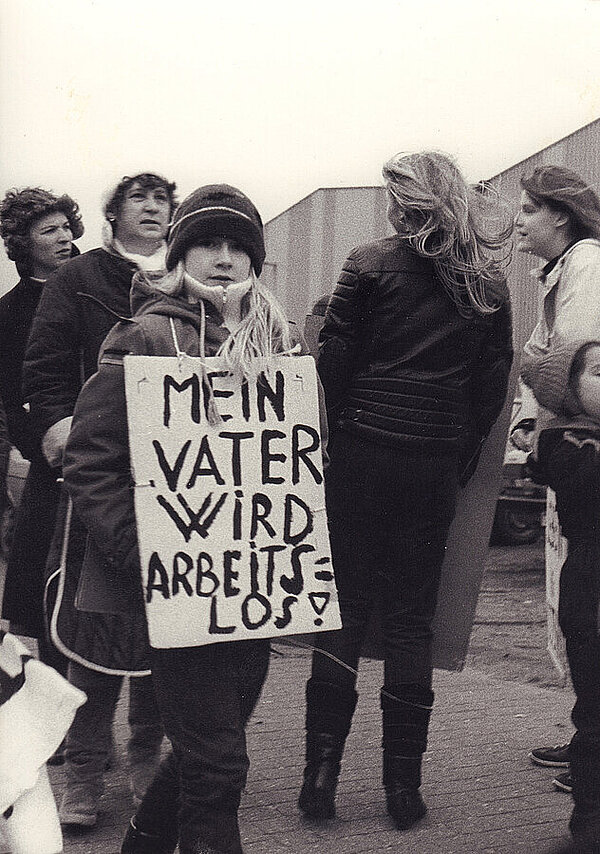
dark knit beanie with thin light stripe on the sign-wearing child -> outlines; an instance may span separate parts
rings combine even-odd
[[[260,275],[266,254],[260,214],[247,196],[229,184],[200,187],[179,205],[167,237],[167,270],[199,240],[216,236],[236,240]]]

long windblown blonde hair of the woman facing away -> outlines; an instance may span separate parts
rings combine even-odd
[[[437,151],[396,154],[383,177],[391,224],[433,261],[458,311],[496,311],[511,257],[508,208],[489,187],[467,184],[454,161]]]

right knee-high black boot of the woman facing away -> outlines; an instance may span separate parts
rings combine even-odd
[[[381,690],[383,785],[387,811],[399,830],[427,812],[419,787],[432,705],[433,691],[421,685],[384,686]]]

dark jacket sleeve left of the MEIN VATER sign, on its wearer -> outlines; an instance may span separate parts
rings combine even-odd
[[[139,578],[123,356],[143,352],[135,324],[119,324],[77,400],[63,459],[65,486],[115,572]]]

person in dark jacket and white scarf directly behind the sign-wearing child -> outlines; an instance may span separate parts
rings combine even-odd
[[[23,365],[23,390],[32,429],[54,476],[75,402],[97,368],[102,341],[131,313],[131,280],[140,269],[164,271],[165,235],[176,206],[175,184],[143,172],[111,187],[103,205],[103,245],[57,270],[44,286]],[[67,524],[68,522],[68,524]],[[62,547],[68,544],[63,562]],[[69,659],[68,678],[87,695],[67,736],[66,787],[59,814],[64,825],[97,823],[110,763],[114,710],[125,675],[130,680],[127,742],[129,781],[139,803],[159,762],[163,730],[154,697],[145,640],[124,638],[118,621],[76,606],[87,533],[67,512],[57,514],[48,559],[47,619],[52,638]]]

